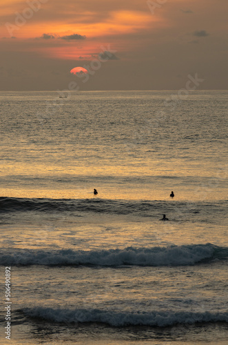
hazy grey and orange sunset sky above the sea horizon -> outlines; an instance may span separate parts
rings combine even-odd
[[[0,90],[179,90],[189,75],[227,89],[227,13],[227,0],[1,0]]]

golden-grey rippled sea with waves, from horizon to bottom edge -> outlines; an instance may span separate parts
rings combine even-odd
[[[227,100],[0,92],[1,344],[227,344]]]

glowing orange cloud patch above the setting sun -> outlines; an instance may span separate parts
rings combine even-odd
[[[32,3],[33,6],[28,6],[28,3],[20,0],[4,0],[1,17],[4,18],[2,21],[5,21],[5,26],[1,26],[1,35],[4,39],[17,37],[21,50],[41,52],[45,57],[92,59],[94,53],[101,51],[100,46],[104,41],[155,27],[156,23],[162,20],[152,17],[147,3],[144,4],[143,11],[139,6],[123,8],[119,6],[120,2],[118,6],[101,10],[99,8],[105,1],[95,1],[96,6],[94,1],[71,0],[67,4],[58,0],[34,1],[36,2]],[[137,2],[140,3],[135,1]],[[12,8],[14,7],[13,14],[12,10],[9,10],[10,3]],[[46,34],[46,39],[42,39],[43,34]],[[78,34],[85,39],[61,39],[72,34]],[[47,39],[48,35],[52,39]]]

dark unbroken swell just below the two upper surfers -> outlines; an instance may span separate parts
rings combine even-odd
[[[225,212],[225,201],[218,204],[205,202],[184,201],[149,201],[149,200],[113,200],[113,199],[48,199],[48,198],[14,198],[0,197],[0,213],[36,211],[43,213],[52,212],[92,212],[117,215],[151,216],[154,212],[162,215],[165,212],[172,214],[199,213],[205,208],[208,214]],[[209,210],[208,210],[209,208]]]

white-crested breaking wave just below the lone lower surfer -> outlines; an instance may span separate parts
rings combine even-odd
[[[1,265],[45,266],[187,266],[211,259],[227,259],[228,248],[192,244],[110,250],[9,250],[0,251]]]

